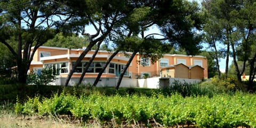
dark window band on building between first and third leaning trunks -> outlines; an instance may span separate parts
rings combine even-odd
[[[74,65],[75,62],[72,63]],[[89,62],[78,63],[75,73],[82,73]],[[92,62],[86,73],[100,73],[101,69],[106,65],[106,62]],[[104,71],[106,73],[106,71]]]

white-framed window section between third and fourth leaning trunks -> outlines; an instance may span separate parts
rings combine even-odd
[[[110,63],[108,66],[108,73],[115,74],[116,76],[120,76],[122,71],[124,70],[125,65],[121,65],[118,63]],[[128,76],[128,71],[126,70],[124,73],[125,76]]]

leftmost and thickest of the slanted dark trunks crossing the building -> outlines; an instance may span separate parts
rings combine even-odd
[[[95,45],[95,44],[96,44],[95,42],[94,42],[94,43],[93,43],[93,42],[90,42],[90,44],[86,47],[86,49],[85,49],[85,50],[82,52],[82,54],[78,57],[78,59],[76,60],[76,62],[74,63],[74,65],[72,66],[71,70],[70,70],[69,73],[68,73],[68,76],[67,76],[67,78],[66,78],[66,82],[65,82],[64,86],[68,86],[68,83],[69,83],[69,81],[70,81],[70,79],[71,79],[71,76],[74,74],[75,69],[76,69],[78,63],[80,63],[80,62],[84,59],[85,55],[91,50],[91,48],[92,48],[93,45]]]

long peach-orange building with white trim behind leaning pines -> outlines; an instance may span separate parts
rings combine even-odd
[[[33,50],[33,48],[31,50]],[[61,47],[41,46],[35,52],[34,59],[31,62],[29,70],[40,73],[43,68],[53,68],[54,75],[57,76],[58,79],[60,79],[59,83],[57,84],[63,84],[66,77],[68,76],[71,67],[73,66],[73,63],[78,59],[79,55],[83,51],[84,49],[67,49]],[[86,66],[87,62],[89,62],[93,53],[94,50],[91,50],[85,55],[82,62],[79,63],[78,67],[76,68],[76,71],[72,76],[73,79],[79,79],[84,70],[84,67]],[[108,51],[99,51],[95,59],[91,63],[89,70],[87,70],[84,78],[93,79],[97,77],[99,71],[106,64],[106,61],[108,60],[110,55],[111,53]],[[166,54],[163,58],[159,59],[155,63],[150,63],[150,60],[145,58],[143,60],[146,61],[140,62],[140,60],[142,59],[143,58],[139,57],[139,54],[135,55],[134,59],[131,62],[131,65],[129,66],[124,75],[124,78],[138,79],[143,78],[143,76],[159,77],[163,73],[161,70],[164,70],[166,66],[181,66],[178,65],[179,63],[182,63],[183,67],[186,66],[188,69],[190,69],[188,66],[192,66],[190,69],[191,71],[197,70],[198,68],[200,70],[203,70],[203,77],[207,78],[207,59],[199,55],[190,56]],[[118,53],[116,57],[111,60],[109,66],[105,70],[105,73],[102,74],[101,78],[117,78],[123,71],[128,60],[129,58],[127,57],[127,55],[124,55],[123,53]],[[194,76],[197,77],[196,74],[198,73],[191,73],[191,76],[188,75],[186,77],[194,78]],[[174,77],[183,76],[176,73]],[[72,83],[70,83],[70,85],[72,85]]]

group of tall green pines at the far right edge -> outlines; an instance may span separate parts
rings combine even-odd
[[[205,0],[202,2],[205,12],[209,15],[204,31],[210,46],[215,47],[219,42],[221,49],[215,49],[215,59],[220,54],[226,55],[226,77],[228,75],[228,58],[233,57],[236,77],[241,82],[241,75],[245,71],[246,62],[250,63],[250,79],[255,75],[256,54],[255,47],[256,30],[256,2],[246,0]],[[243,66],[239,68],[238,61]],[[218,62],[218,60],[217,60]],[[254,75],[253,75],[254,74]],[[252,89],[252,84],[249,85]]]

